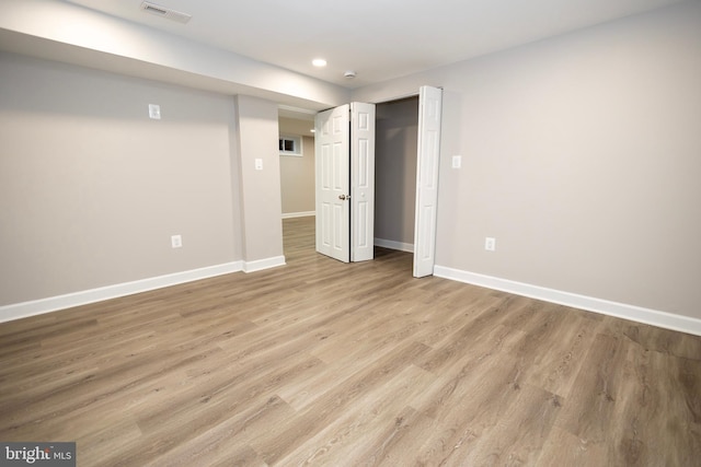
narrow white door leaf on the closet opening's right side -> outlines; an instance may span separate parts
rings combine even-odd
[[[414,221],[414,277],[434,273],[436,262],[436,208],[440,161],[443,91],[418,91],[418,160],[416,164],[416,217]]]

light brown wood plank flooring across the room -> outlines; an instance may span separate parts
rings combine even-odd
[[[0,325],[0,441],[79,466],[698,466],[701,338],[439,278],[288,265]]]

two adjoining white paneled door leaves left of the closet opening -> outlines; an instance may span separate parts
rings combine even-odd
[[[317,252],[375,256],[375,105],[354,102],[315,119]]]

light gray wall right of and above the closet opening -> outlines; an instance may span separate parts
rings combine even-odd
[[[701,318],[699,24],[689,2],[356,91],[445,89],[437,264]]]

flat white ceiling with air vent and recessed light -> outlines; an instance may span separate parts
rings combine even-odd
[[[152,0],[187,24],[141,0],[65,1],[353,89],[681,0]]]

